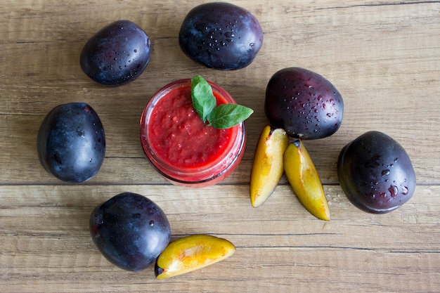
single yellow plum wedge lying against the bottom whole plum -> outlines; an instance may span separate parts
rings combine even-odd
[[[189,235],[169,243],[155,264],[159,280],[205,268],[235,252],[235,246],[226,239],[211,235]]]

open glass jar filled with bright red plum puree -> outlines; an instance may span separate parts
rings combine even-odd
[[[235,103],[220,86],[208,82],[217,105]],[[202,122],[192,106],[191,79],[162,87],[141,116],[141,144],[152,166],[168,181],[206,187],[224,180],[245,151],[245,122],[214,129]]]

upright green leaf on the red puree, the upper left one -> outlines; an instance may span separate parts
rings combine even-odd
[[[200,75],[191,79],[191,98],[195,112],[204,123],[207,122],[207,116],[216,107],[216,98],[211,86]]]

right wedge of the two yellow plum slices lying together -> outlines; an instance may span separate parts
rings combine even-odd
[[[330,209],[323,184],[301,140],[290,143],[285,150],[284,171],[299,202],[316,218],[329,221]]]

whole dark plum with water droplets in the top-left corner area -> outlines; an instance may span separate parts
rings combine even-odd
[[[150,61],[150,47],[150,38],[141,27],[129,20],[117,20],[86,42],[79,64],[98,84],[120,86],[145,70]]]

